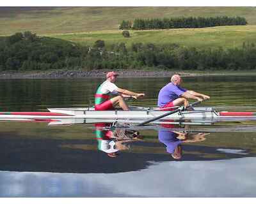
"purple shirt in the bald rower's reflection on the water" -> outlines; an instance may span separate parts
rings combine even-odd
[[[182,143],[182,140],[176,138],[177,134],[172,131],[159,130],[158,140],[166,145],[166,151],[173,153],[175,148]]]

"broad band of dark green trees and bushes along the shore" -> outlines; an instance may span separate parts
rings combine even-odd
[[[0,38],[0,70],[48,69],[190,69],[237,70],[256,68],[256,47],[195,48],[177,44],[115,43],[102,40],[93,46],[38,37],[30,32]]]

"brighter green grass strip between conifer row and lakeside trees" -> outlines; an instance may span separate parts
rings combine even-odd
[[[170,29],[154,31],[131,31],[131,38],[124,38],[122,31],[95,31],[77,34],[50,34],[54,38],[93,45],[104,40],[106,45],[124,42],[132,43],[177,43],[188,47],[241,47],[243,42],[256,42],[256,25],[220,26],[200,29]]]

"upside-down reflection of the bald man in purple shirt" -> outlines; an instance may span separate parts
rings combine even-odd
[[[182,143],[202,142],[206,140],[205,135],[209,133],[186,133],[163,129],[158,131],[158,139],[166,146],[166,151],[173,159],[181,159]]]

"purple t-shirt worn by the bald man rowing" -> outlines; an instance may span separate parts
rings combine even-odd
[[[187,89],[174,85],[172,82],[170,82],[159,91],[157,105],[162,107],[167,103],[179,98],[186,91]]]

